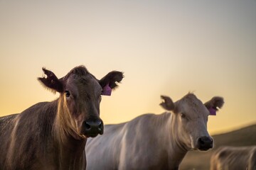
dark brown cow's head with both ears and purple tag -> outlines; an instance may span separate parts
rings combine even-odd
[[[103,133],[100,119],[101,95],[110,96],[123,79],[122,72],[110,72],[96,79],[84,66],[75,67],[65,77],[58,79],[53,72],[43,68],[46,77],[38,78],[53,92],[59,92],[58,118],[75,137],[95,137]]]

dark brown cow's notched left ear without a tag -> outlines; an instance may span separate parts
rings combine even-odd
[[[42,69],[46,77],[38,77],[38,81],[40,81],[41,84],[43,84],[43,86],[45,86],[47,89],[49,89],[50,91],[53,91],[53,93],[55,93],[56,91],[58,91],[59,93],[62,93],[63,92],[62,81],[59,80],[53,72],[50,72],[46,68],[42,68]]]

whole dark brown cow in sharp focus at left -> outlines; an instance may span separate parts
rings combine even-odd
[[[123,78],[122,72],[110,72],[97,80],[83,66],[61,79],[43,72],[46,77],[38,80],[60,97],[0,118],[1,170],[85,169],[87,137],[103,133],[101,94]]]

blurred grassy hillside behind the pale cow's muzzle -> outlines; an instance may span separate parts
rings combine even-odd
[[[181,170],[207,170],[210,167],[210,156],[220,146],[250,146],[256,145],[256,125],[250,125],[240,130],[213,136],[215,147],[208,152],[188,152],[181,162]]]

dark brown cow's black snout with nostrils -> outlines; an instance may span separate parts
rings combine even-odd
[[[83,122],[83,126],[87,137],[96,137],[98,134],[103,134],[102,120],[87,120]]]

